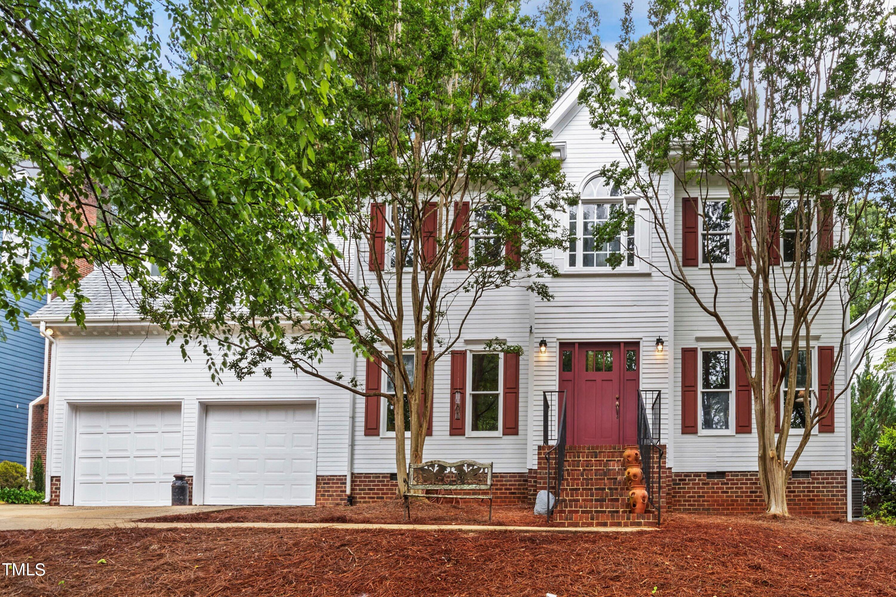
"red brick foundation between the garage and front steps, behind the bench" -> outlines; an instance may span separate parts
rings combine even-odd
[[[368,504],[398,495],[398,482],[390,473],[355,473],[352,475],[351,492],[355,504]],[[492,487],[495,506],[513,506],[527,503],[530,473],[494,473]],[[481,493],[467,491],[467,493]],[[435,492],[434,492],[435,494]],[[317,476],[316,503],[318,506],[344,506],[345,475]]]

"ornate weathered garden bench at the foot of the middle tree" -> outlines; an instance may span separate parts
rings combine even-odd
[[[492,522],[492,463],[475,460],[428,460],[408,466],[408,485],[404,492],[404,511],[410,520],[410,499],[431,498],[427,490],[475,491],[476,493],[440,493],[439,498],[487,499],[488,522]],[[487,491],[488,495],[484,495]]]

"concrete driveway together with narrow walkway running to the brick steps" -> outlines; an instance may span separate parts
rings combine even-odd
[[[142,523],[141,518],[226,510],[233,506],[40,506],[0,505],[0,531],[99,529],[126,526],[150,529],[386,529],[390,531],[516,531],[521,533],[629,533],[650,527],[574,528],[562,526],[371,525],[363,523]]]

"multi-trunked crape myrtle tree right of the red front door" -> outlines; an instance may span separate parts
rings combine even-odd
[[[865,0],[662,2],[633,41],[630,9],[618,61],[580,64],[591,124],[623,156],[603,175],[650,207],[658,271],[715,320],[745,367],[762,495],[769,514],[787,516],[790,473],[849,391],[834,379],[849,369],[853,296],[869,308],[893,290],[891,241],[879,234],[896,217],[893,14]],[[668,217],[668,172],[685,197],[685,239]],[[727,200],[708,200],[714,184]],[[863,226],[870,213],[875,226]],[[615,236],[626,217],[602,233]],[[732,262],[742,267],[719,265]],[[721,300],[731,284],[749,292],[737,311]],[[734,328],[743,310],[752,354]],[[831,317],[839,340],[819,351]],[[853,347],[859,358],[866,349]],[[817,388],[806,354],[824,371]]]

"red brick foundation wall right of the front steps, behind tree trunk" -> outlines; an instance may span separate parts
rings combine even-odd
[[[846,471],[813,471],[811,479],[788,483],[788,511],[797,516],[846,517]],[[726,473],[707,479],[706,473],[663,473],[663,491],[672,512],[762,514],[765,502],[759,473]]]

